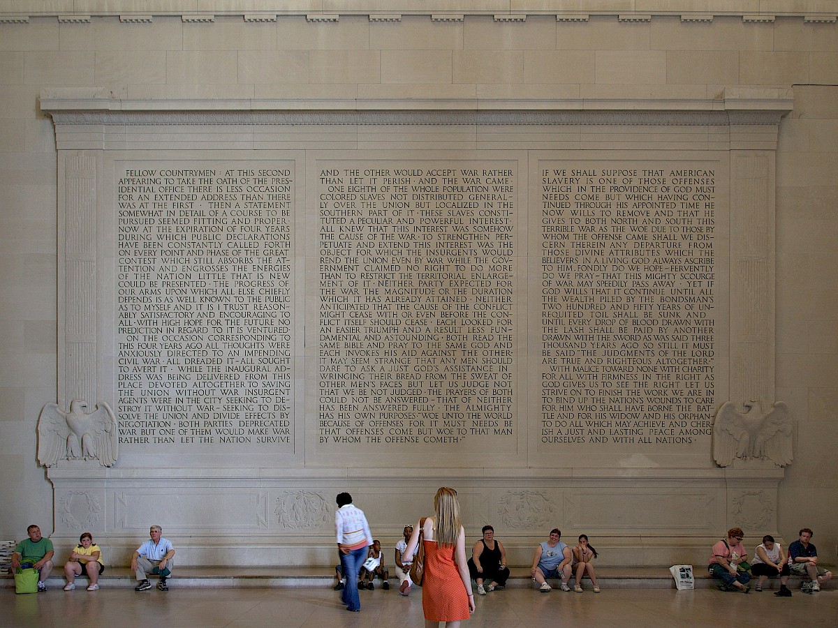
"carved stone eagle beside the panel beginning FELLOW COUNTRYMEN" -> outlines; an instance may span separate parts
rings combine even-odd
[[[59,460],[97,460],[113,466],[119,451],[119,433],[113,411],[104,401],[90,414],[87,404],[70,401],[70,412],[46,404],[38,418],[38,461],[55,466]]]

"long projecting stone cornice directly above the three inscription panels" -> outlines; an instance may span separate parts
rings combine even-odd
[[[792,90],[729,88],[716,99],[118,100],[101,90],[40,98],[57,124],[176,125],[724,125],[777,124]]]

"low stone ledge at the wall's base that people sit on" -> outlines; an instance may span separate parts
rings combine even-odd
[[[535,584],[530,580],[530,569],[511,569],[508,587],[523,589],[532,587]],[[392,574],[393,572],[391,572]],[[694,565],[693,574],[696,579],[696,589],[706,589],[716,586],[716,582],[710,578],[703,565]],[[597,569],[597,579],[603,589],[674,589],[675,580],[670,574],[668,567],[649,568],[625,568],[625,567],[602,567]],[[793,578],[794,579],[794,578]],[[13,587],[14,579],[3,574],[3,586]],[[156,584],[156,577],[152,577]],[[76,578],[77,586],[87,586],[87,579],[79,576]],[[114,589],[133,588],[136,584],[134,574],[127,568],[108,567],[104,574],[99,577],[102,587]],[[177,567],[171,578],[172,586],[190,588],[275,588],[275,587],[334,587],[334,569],[328,568],[282,568],[272,569],[267,567],[239,568],[239,567]],[[66,581],[64,574],[54,570],[47,581],[48,589],[62,589]],[[558,582],[550,581],[554,589],[558,589]],[[375,580],[375,588],[380,588],[380,580]],[[391,589],[396,589],[398,579],[391,577]],[[779,580],[768,581],[768,586],[774,589],[779,588]],[[796,584],[795,584],[796,586]],[[590,581],[582,579],[582,588],[589,589]]]

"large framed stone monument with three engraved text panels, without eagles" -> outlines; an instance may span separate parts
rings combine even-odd
[[[396,538],[456,486],[469,530],[502,523],[523,562],[545,526],[607,538],[617,563],[651,538],[663,564],[703,556],[736,508],[776,512],[782,469],[716,466],[711,426],[726,401],[774,401],[782,90],[41,105],[59,404],[105,400],[120,431],[114,466],[49,478],[58,498],[97,487],[111,545],[160,495],[187,564],[230,537],[242,564],[328,564],[341,490]]]

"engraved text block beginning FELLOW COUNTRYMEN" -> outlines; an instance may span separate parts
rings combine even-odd
[[[121,444],[292,450],[292,172],[117,167]]]

